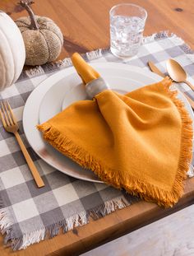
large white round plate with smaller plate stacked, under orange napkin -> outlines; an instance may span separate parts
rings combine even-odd
[[[161,77],[152,72],[125,64],[95,63],[91,66],[109,82],[109,86],[113,90],[123,93],[161,80]],[[192,108],[185,97],[181,93],[178,96],[185,102],[187,110],[194,119]],[[102,182],[92,171],[82,169],[75,162],[44,142],[41,133],[35,128],[36,124],[44,123],[53,115],[58,114],[62,110],[62,105],[63,108],[66,108],[72,102],[85,99],[85,97],[81,79],[76,74],[75,68],[63,69],[40,83],[30,94],[25,103],[23,126],[30,146],[53,168],[77,179]]]

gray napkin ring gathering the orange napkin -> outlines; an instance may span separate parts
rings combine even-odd
[[[110,90],[109,85],[102,77],[96,78],[85,85],[85,91],[90,99],[104,90]]]

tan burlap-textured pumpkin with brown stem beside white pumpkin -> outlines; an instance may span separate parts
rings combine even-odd
[[[48,17],[35,16],[30,8],[32,2],[21,1],[30,16],[16,20],[25,43],[25,65],[43,65],[58,58],[63,36],[59,27]]]

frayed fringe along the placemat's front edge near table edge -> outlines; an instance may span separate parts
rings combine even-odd
[[[6,208],[0,209],[0,228],[4,237],[4,244],[11,246],[14,251],[20,249],[26,249],[30,244],[39,243],[41,240],[45,240],[46,237],[53,238],[59,234],[62,229],[63,233],[69,230],[75,229],[77,226],[84,226],[89,223],[89,218],[92,217],[97,220],[103,216],[114,212],[116,209],[122,209],[132,204],[134,201],[138,201],[138,198],[125,198],[124,195],[113,198],[112,200],[106,201],[98,207],[93,207],[88,211],[79,212],[73,216],[62,219],[53,225],[40,227],[39,230],[34,230],[29,233],[25,233],[21,236],[16,236],[12,229],[11,218],[9,217],[10,212]]]

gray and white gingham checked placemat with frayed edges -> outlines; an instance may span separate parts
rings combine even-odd
[[[176,35],[160,33],[145,39],[139,53],[128,60],[114,57],[109,49],[96,50],[85,54],[91,62],[126,63],[148,69],[147,62],[152,61],[166,72],[165,61],[174,58],[193,82],[194,65],[192,50]],[[113,212],[117,208],[135,203],[137,198],[124,191],[113,189],[105,184],[95,184],[63,175],[47,165],[30,148],[22,129],[22,111],[30,92],[44,81],[52,72],[71,65],[69,58],[56,65],[36,67],[22,74],[15,85],[1,92],[0,100],[7,99],[12,105],[20,124],[20,134],[30,156],[44,179],[45,187],[37,189],[25,159],[12,134],[5,132],[0,124],[0,228],[5,233],[5,243],[11,242],[12,249],[25,249],[28,245],[44,240],[47,233],[58,235],[73,226],[84,225],[89,215],[98,218]],[[40,74],[40,76],[36,76]],[[30,77],[30,78],[29,78]],[[178,86],[187,95],[193,95],[188,86]],[[192,176],[192,171],[190,176]]]

